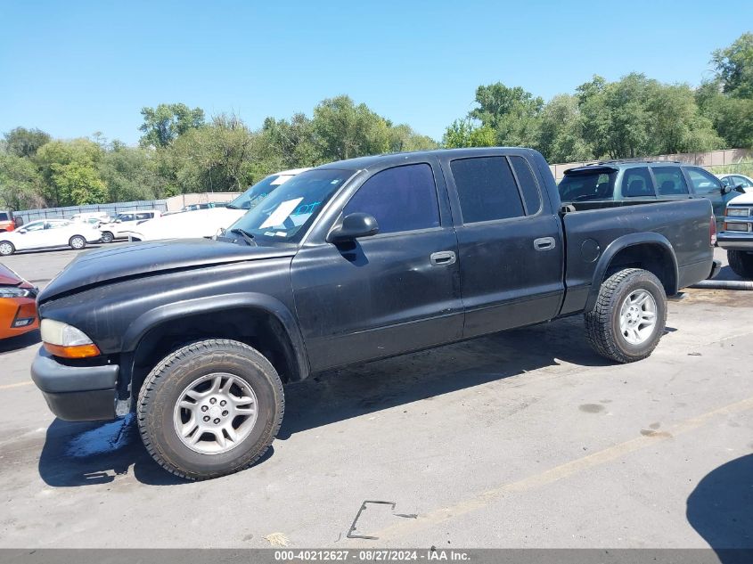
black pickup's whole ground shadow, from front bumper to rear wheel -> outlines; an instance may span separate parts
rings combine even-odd
[[[575,370],[610,365],[588,346],[580,317],[328,372],[285,389],[278,438],[563,362]],[[274,447],[255,466],[273,454]],[[109,483],[131,467],[143,484],[188,483],[151,459],[132,416],[105,423],[56,419],[38,465],[54,487]]]

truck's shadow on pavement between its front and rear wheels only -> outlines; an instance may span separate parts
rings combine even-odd
[[[580,316],[324,373],[285,389],[278,438],[366,413],[557,366],[609,366]]]

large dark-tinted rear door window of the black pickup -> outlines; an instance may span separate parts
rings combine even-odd
[[[520,192],[504,157],[457,159],[450,163],[462,212],[462,223],[522,217]]]

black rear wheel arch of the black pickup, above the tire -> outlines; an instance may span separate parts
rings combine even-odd
[[[623,268],[643,268],[659,278],[667,296],[673,296],[679,288],[677,261],[672,245],[658,233],[652,233],[648,240],[615,241],[602,255],[602,260],[594,273],[591,294],[585,311],[593,309],[599,289],[611,274]]]

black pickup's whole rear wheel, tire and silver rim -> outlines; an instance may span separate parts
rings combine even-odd
[[[659,279],[640,268],[626,268],[602,283],[585,329],[593,350],[618,363],[651,355],[667,323],[667,296]]]

